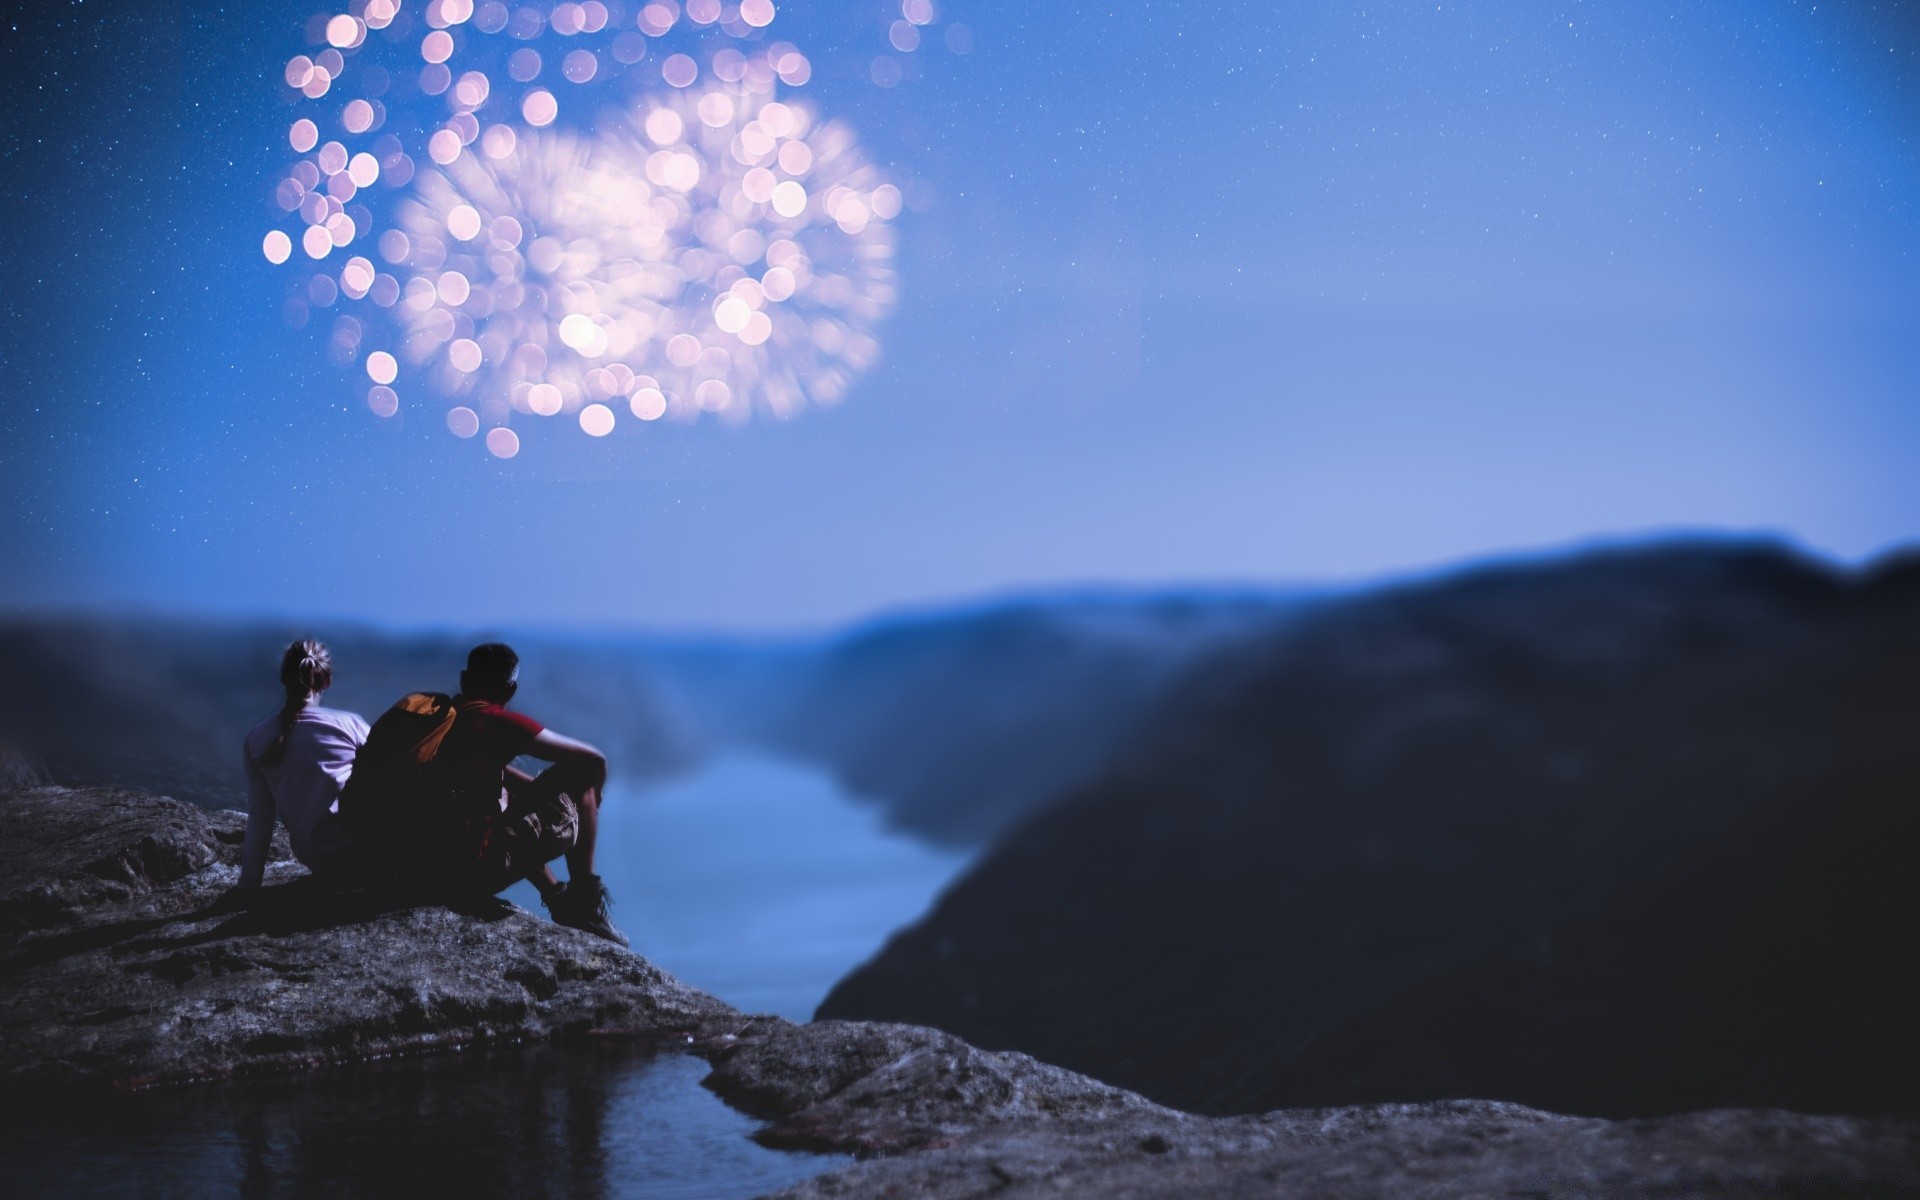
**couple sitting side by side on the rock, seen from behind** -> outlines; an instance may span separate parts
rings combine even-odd
[[[459,695],[401,697],[372,728],[321,707],[332,678],[324,645],[292,643],[286,705],[246,735],[238,900],[257,895],[278,818],[294,856],[338,885],[472,899],[532,879],[557,924],[626,945],[593,874],[607,758],[507,710],[520,678],[513,647],[476,645]],[[513,766],[522,755],[553,766],[528,776]],[[564,883],[547,866],[561,856]]]

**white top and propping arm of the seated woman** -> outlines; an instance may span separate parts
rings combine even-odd
[[[261,766],[259,756],[278,735],[278,712],[246,735],[242,887],[259,885],[267,870],[275,818],[286,826],[294,858],[309,868],[346,849],[346,831],[338,818],[340,789],[353,774],[353,755],[367,743],[367,722],[357,712],[307,705],[294,716],[294,728],[286,735],[286,755],[273,766]]]

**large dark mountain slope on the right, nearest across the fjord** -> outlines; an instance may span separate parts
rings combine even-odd
[[[822,1018],[1208,1114],[1920,1108],[1920,561],[1668,543],[1219,647]]]

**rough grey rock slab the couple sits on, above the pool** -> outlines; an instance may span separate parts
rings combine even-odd
[[[138,1087],[467,1043],[685,1043],[745,1018],[511,906],[324,897],[286,860],[215,906],[242,818],[119,789],[0,795],[0,1077]],[[280,881],[278,885],[276,879]]]

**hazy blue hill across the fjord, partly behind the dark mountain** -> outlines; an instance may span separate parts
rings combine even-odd
[[[981,845],[1091,780],[1192,660],[1311,605],[1281,593],[1062,595],[879,620],[778,672],[685,676],[741,693],[730,739],[820,762],[912,833]],[[668,676],[672,678],[672,676]],[[714,708],[714,705],[707,705]]]

